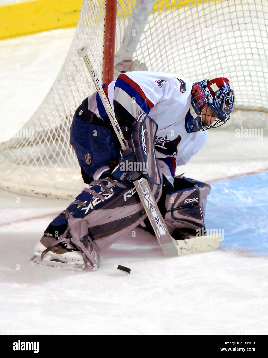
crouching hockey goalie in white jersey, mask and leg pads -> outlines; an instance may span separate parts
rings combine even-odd
[[[45,229],[34,262],[97,269],[101,251],[126,231],[141,223],[150,230],[133,185],[142,176],[175,240],[195,237],[205,226],[209,185],[175,176],[175,169],[205,144],[207,129],[229,119],[234,106],[229,80],[192,83],[178,73],[126,72],[103,88],[129,148],[120,155],[98,93],[86,98],[70,131],[86,187]]]

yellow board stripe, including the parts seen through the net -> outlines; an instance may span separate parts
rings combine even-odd
[[[103,2],[104,0],[93,0]],[[155,0],[154,11],[178,9],[182,6],[195,6],[214,0]],[[216,0],[221,1],[221,0]],[[119,0],[119,18],[132,13],[135,0]],[[173,5],[174,4],[174,5]],[[58,28],[75,27],[80,14],[82,0],[34,0],[0,6],[0,40],[34,34]]]

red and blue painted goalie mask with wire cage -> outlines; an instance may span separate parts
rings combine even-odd
[[[204,79],[194,83],[190,110],[185,119],[185,129],[188,133],[193,133],[222,126],[230,118],[233,107],[234,92],[230,88],[228,78]],[[208,108],[212,111],[212,116],[216,117],[210,124],[204,122],[204,117],[210,117],[207,114]]]

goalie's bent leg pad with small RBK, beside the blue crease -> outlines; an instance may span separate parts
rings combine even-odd
[[[210,186],[197,180],[175,177],[174,189],[165,198],[165,222],[170,234],[177,240],[195,237],[197,230],[205,230],[205,206]]]

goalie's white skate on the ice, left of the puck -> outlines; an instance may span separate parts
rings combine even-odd
[[[62,248],[61,250],[54,249],[55,248],[53,248],[53,251],[58,251],[58,253],[50,250],[42,259],[41,255],[46,250],[46,246],[44,246],[39,241],[35,246],[34,256],[31,258],[30,262],[75,271],[83,271],[86,269],[87,266],[83,260],[82,253],[80,251],[67,249],[64,250],[64,248]]]

